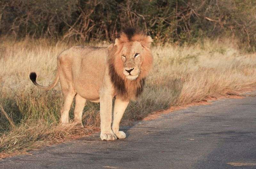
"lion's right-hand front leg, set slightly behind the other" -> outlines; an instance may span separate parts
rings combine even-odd
[[[116,98],[115,100],[115,107],[114,107],[114,119],[113,119],[113,125],[112,129],[115,133],[115,135],[119,138],[125,138],[126,135],[123,131],[119,131],[119,124],[123,117],[124,111],[126,107],[128,106],[130,101],[123,101],[120,98]]]

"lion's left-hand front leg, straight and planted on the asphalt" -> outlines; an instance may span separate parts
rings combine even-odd
[[[104,93],[100,96],[100,138],[101,140],[116,140],[111,129],[112,122],[112,95]]]

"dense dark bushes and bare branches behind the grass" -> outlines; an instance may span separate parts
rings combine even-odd
[[[156,42],[195,42],[231,36],[255,51],[255,0],[1,0],[0,33],[112,41],[137,26]]]

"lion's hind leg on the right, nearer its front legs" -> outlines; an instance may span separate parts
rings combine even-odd
[[[84,127],[82,123],[82,115],[85,106],[86,99],[82,98],[78,93],[76,94],[76,106],[74,111],[74,120],[79,124],[79,127]]]

